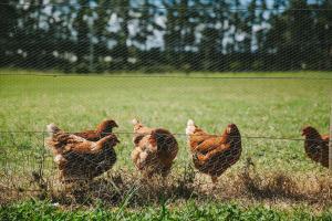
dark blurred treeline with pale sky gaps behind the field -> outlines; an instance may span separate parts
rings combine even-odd
[[[332,70],[332,1],[1,0],[0,67]]]

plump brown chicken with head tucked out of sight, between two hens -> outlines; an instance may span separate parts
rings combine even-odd
[[[170,131],[163,128],[148,128],[137,119],[133,120],[135,145],[132,160],[147,178],[155,173],[166,177],[178,151],[178,144]]]

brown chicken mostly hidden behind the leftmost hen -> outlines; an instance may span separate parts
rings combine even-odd
[[[83,137],[84,139],[87,139],[90,141],[97,141],[101,138],[110,135],[114,127],[118,127],[117,124],[113,119],[106,119],[97,125],[95,130],[85,130],[75,133],[74,135]]]

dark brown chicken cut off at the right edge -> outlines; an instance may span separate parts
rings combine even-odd
[[[321,164],[323,167],[329,168],[330,136],[321,136],[320,133],[311,126],[302,129],[302,136],[305,136],[304,150],[307,156],[313,161]]]

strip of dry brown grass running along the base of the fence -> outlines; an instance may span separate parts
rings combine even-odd
[[[207,177],[196,173],[191,166],[181,173],[173,173],[166,180],[154,177],[144,179],[137,172],[117,170],[95,179],[75,183],[60,183],[54,178],[42,178],[32,173],[31,178],[21,178],[24,185],[0,188],[0,203],[9,203],[25,198],[50,199],[63,206],[87,206],[103,203],[115,207],[143,207],[194,199],[230,201],[245,204],[268,203],[271,206],[308,204],[315,209],[332,204],[332,178],[305,173],[293,175],[284,171],[259,171],[248,159],[238,172],[226,172],[216,188]],[[21,181],[22,181],[21,180]],[[28,189],[27,180],[30,180]],[[22,181],[23,183],[23,181]],[[24,187],[23,187],[24,186]],[[23,188],[22,188],[23,187]]]

